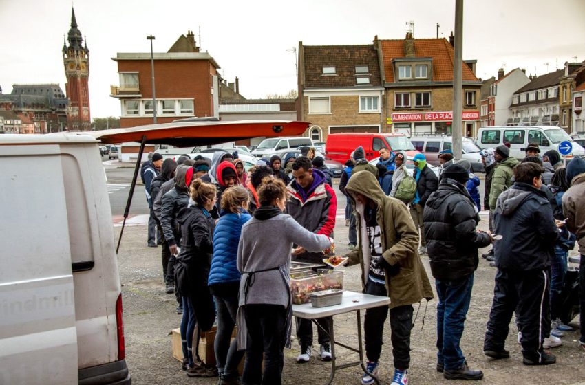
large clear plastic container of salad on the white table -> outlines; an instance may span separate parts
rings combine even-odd
[[[290,274],[292,303],[301,305],[310,302],[310,294],[328,289],[343,290],[344,270],[318,269],[317,272]]]

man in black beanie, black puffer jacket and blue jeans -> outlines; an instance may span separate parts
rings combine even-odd
[[[439,300],[436,367],[449,380],[481,380],[483,377],[482,371],[469,369],[460,348],[474,272],[478,268],[478,248],[485,248],[493,241],[486,232],[476,230],[480,217],[465,188],[468,180],[469,170],[464,166],[447,166],[423,214],[430,267]]]

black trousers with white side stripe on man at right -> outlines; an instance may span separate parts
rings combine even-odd
[[[538,360],[542,341],[551,332],[549,275],[546,270],[498,269],[483,344],[485,351],[504,349],[515,310],[518,330],[522,332],[522,354],[529,360]]]

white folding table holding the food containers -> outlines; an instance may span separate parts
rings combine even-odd
[[[381,307],[390,305],[390,298],[385,296],[372,296],[370,294],[362,294],[357,292],[349,292],[348,290],[343,291],[343,296],[341,297],[341,304],[328,306],[328,307],[312,307],[310,303],[305,303],[303,305],[292,305],[292,314],[295,317],[299,318],[306,318],[308,320],[312,320],[315,322],[316,318],[323,318],[329,316],[335,316],[337,314],[349,313],[350,311],[356,312],[356,319],[357,319],[357,339],[358,339],[358,347],[350,347],[346,344],[342,344],[341,342],[337,342],[335,340],[334,332],[333,332],[333,321],[331,322],[330,332],[328,333],[330,340],[331,340],[331,374],[329,376],[327,385],[333,382],[333,378],[335,377],[335,372],[339,369],[350,368],[351,366],[361,366],[361,369],[364,373],[369,373],[363,364],[363,343],[361,341],[361,318],[360,318],[360,311],[363,309],[371,309],[372,307]],[[317,322],[315,322],[317,327],[320,327]],[[359,361],[348,362],[345,364],[337,365],[336,358],[335,358],[335,345],[339,345],[340,347],[344,347],[350,351],[359,354]],[[372,375],[372,377],[374,377]],[[376,380],[376,384],[380,384],[379,380],[374,377]]]

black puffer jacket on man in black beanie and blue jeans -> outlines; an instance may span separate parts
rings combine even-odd
[[[423,221],[433,276],[458,281],[478,268],[478,248],[491,243],[489,235],[477,232],[480,221],[467,189],[443,177],[438,190],[427,200]]]

